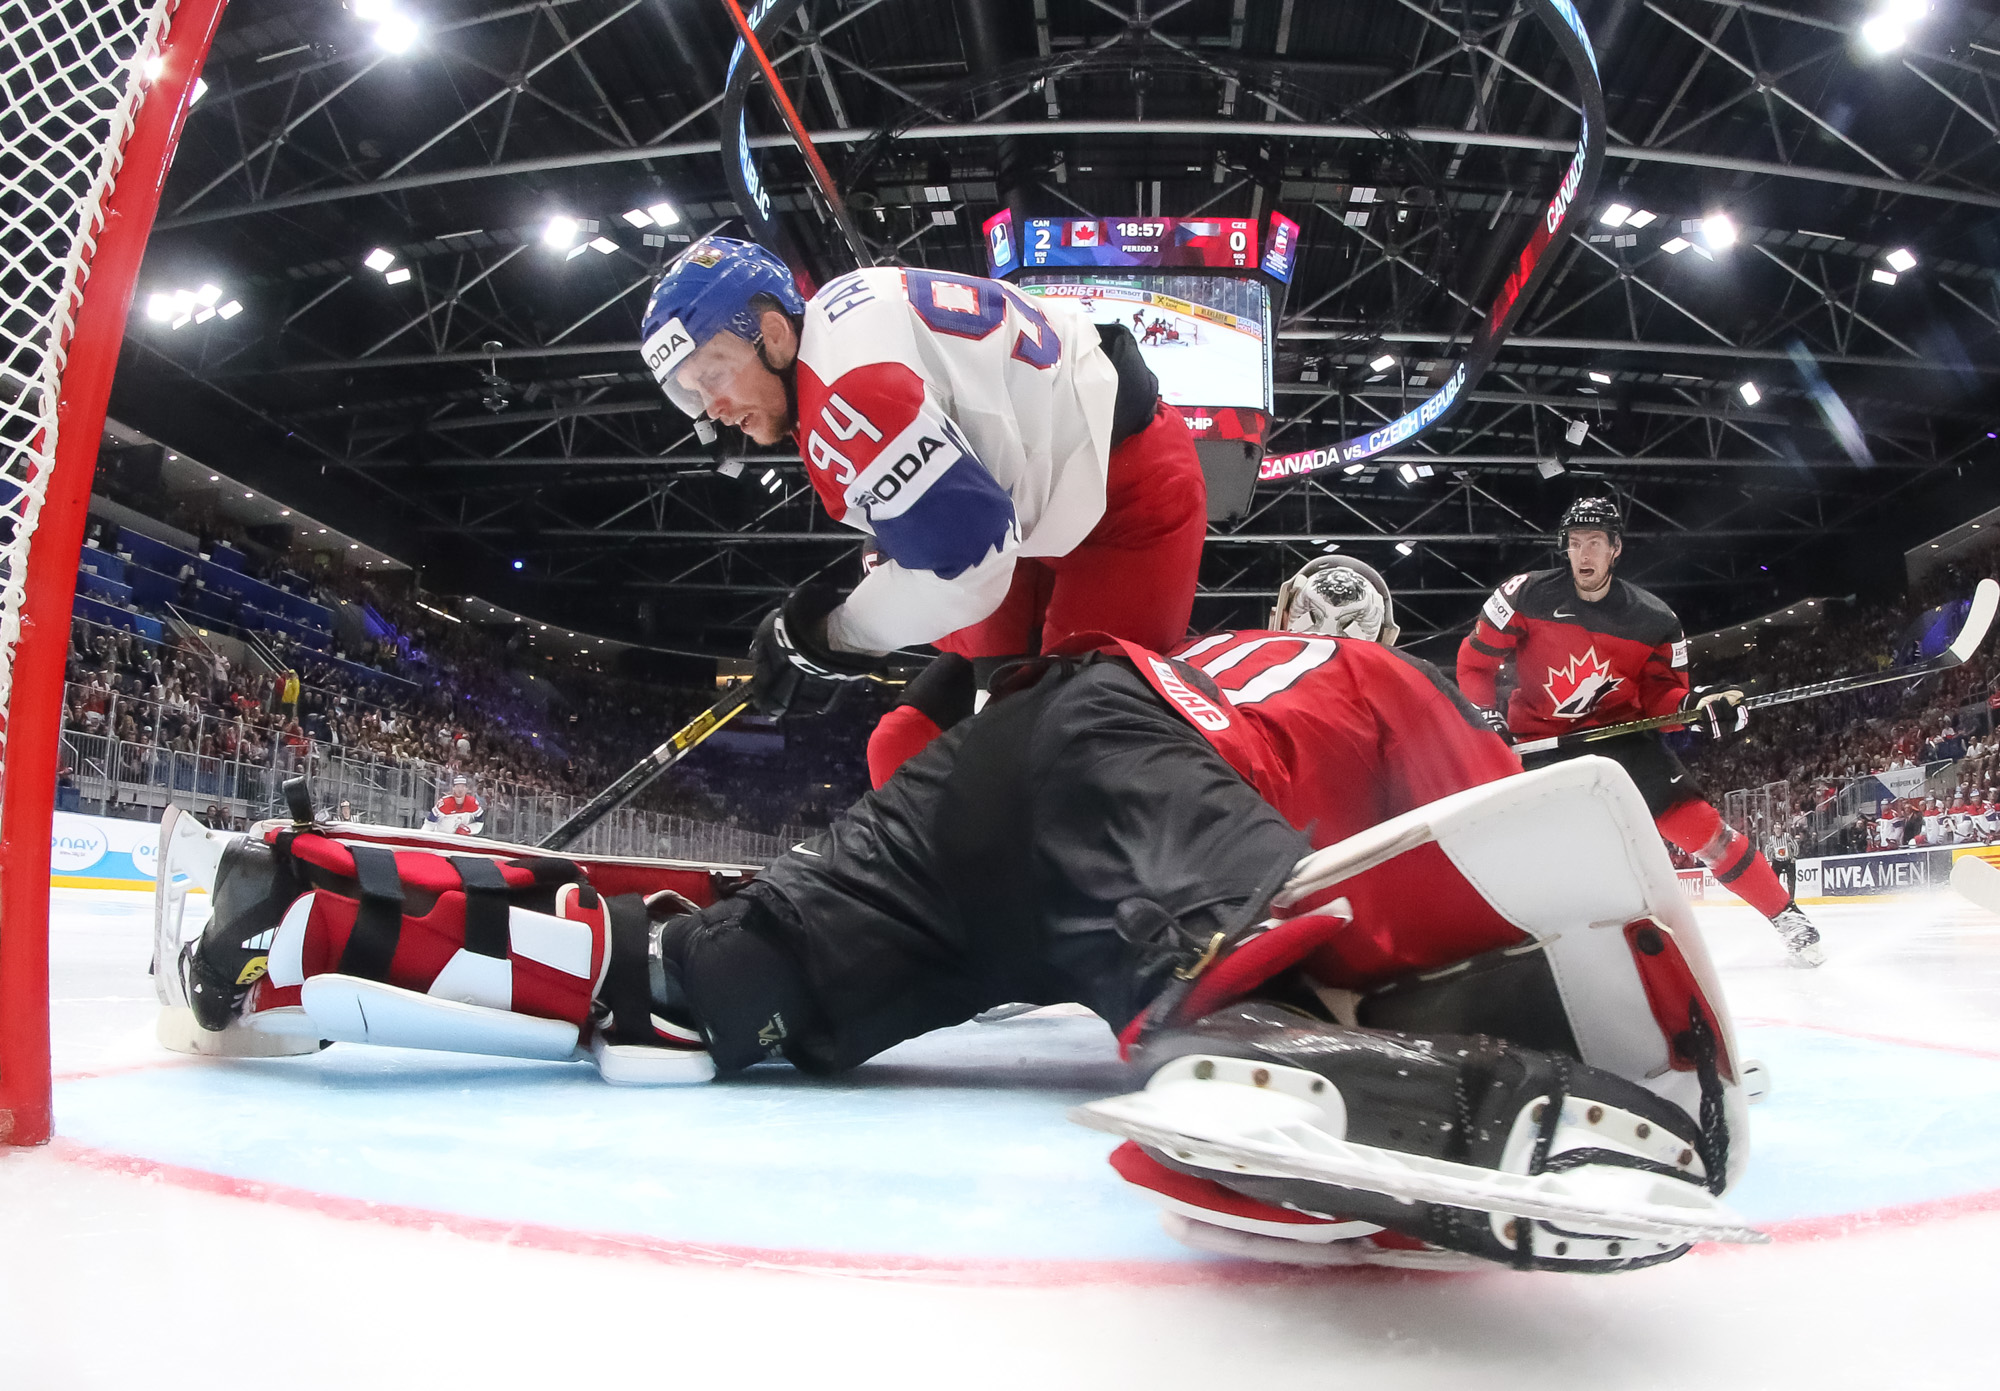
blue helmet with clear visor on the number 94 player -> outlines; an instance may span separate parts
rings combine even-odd
[[[718,334],[746,348],[762,340],[752,300],[768,294],[786,314],[804,314],[806,300],[784,262],[754,242],[704,236],[660,276],[646,302],[642,354],[666,398],[702,418],[702,394],[680,380],[680,368]]]

